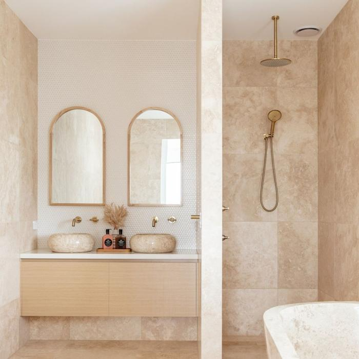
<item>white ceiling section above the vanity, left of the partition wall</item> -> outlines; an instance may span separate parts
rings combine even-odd
[[[199,0],[5,0],[37,38],[195,40]]]

